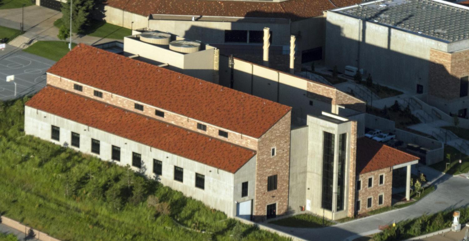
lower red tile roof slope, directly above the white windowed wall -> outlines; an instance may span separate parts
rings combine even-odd
[[[254,155],[230,143],[46,86],[27,106],[235,173]]]

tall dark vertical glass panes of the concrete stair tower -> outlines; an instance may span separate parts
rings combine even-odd
[[[334,180],[334,140],[335,135],[324,132],[323,143],[323,178],[322,208],[332,211],[333,180]],[[347,151],[347,134],[339,135],[339,157],[337,161],[337,211],[344,210],[345,200],[345,159]]]

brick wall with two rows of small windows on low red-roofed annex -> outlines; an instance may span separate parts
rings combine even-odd
[[[379,175],[384,174],[384,184],[379,185]],[[368,188],[368,178],[373,177],[373,187]],[[362,180],[362,189],[356,192],[355,201],[361,201],[360,211],[356,214],[366,213],[382,207],[391,206],[393,188],[393,169],[384,168],[370,173],[360,174],[357,181]],[[383,204],[378,205],[378,196],[383,194]],[[371,208],[367,208],[367,200],[372,197]]]

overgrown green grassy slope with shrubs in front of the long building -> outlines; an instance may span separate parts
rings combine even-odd
[[[2,215],[64,241],[287,240],[227,218],[129,166],[25,136],[28,99],[0,102]]]

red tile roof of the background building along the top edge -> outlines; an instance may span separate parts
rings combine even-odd
[[[361,0],[287,0],[283,2],[225,0],[107,0],[113,8],[138,15],[202,15],[287,18],[293,21],[323,15],[323,11],[360,3]]]

